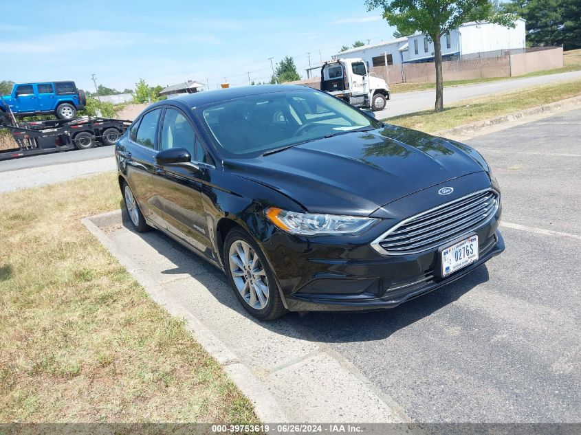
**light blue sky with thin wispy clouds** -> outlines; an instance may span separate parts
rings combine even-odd
[[[51,16],[55,18],[52,19]],[[2,5],[0,80],[75,80],[133,89],[187,79],[217,87],[268,80],[270,58],[303,67],[360,39],[391,39],[393,28],[364,0],[17,1]]]

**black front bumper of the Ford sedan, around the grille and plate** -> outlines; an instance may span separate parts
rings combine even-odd
[[[432,190],[397,201],[393,210],[413,216],[430,209],[433,204],[426,201],[435,201]],[[373,249],[373,240],[401,221],[399,216],[383,219],[362,237],[300,238],[277,231],[262,247],[289,311],[386,309],[454,282],[503,252],[505,243],[497,229],[501,211],[499,205],[490,220],[471,231],[479,236],[479,259],[445,278],[439,274],[438,247],[404,255],[383,255]]]

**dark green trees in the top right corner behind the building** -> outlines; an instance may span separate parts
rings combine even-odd
[[[513,0],[503,6],[527,21],[530,45],[581,48],[581,0]]]

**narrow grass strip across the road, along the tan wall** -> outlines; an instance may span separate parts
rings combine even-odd
[[[514,78],[547,76],[549,74],[558,74],[581,69],[581,49],[569,50],[563,53],[563,66],[555,69],[545,69],[544,71],[535,71],[523,76],[514,77],[489,77],[489,78],[471,78],[468,80],[450,80],[443,82],[444,87],[472,85],[474,83],[496,82],[498,80],[511,80]],[[435,82],[428,83],[394,83],[389,85],[392,93],[402,93],[410,91],[425,91],[426,89],[435,89]]]

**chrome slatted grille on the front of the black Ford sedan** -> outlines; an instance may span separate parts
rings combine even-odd
[[[481,227],[498,210],[498,194],[480,190],[416,214],[373,242],[381,254],[417,254]]]

